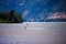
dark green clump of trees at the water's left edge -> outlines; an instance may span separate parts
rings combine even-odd
[[[14,10],[0,11],[0,23],[22,23],[23,19],[20,13]]]

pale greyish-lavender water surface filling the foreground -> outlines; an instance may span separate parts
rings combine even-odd
[[[0,44],[65,44],[65,23],[0,24]]]

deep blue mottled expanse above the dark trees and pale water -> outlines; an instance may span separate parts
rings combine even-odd
[[[0,0],[0,11],[15,10],[24,21],[44,22],[54,12],[66,12],[66,0]]]

